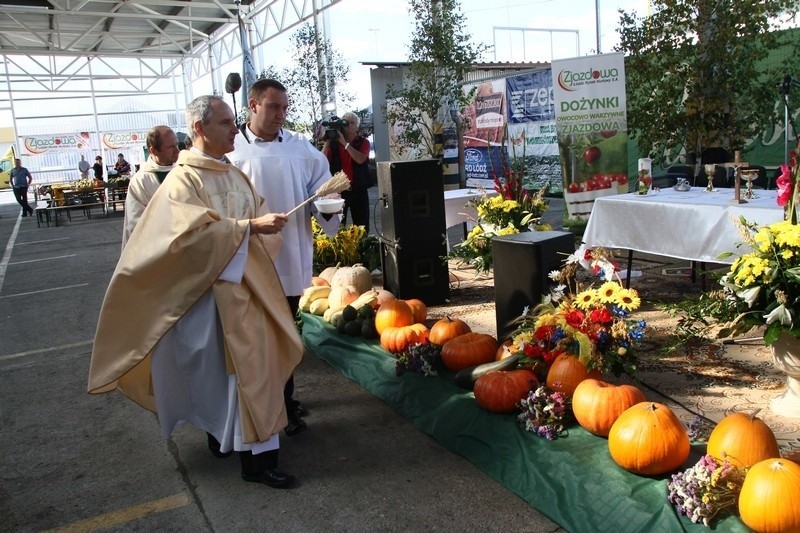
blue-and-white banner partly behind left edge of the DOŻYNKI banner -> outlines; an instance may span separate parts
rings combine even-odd
[[[506,102],[506,150],[513,159],[525,159],[525,188],[560,192],[552,70],[506,78]]]

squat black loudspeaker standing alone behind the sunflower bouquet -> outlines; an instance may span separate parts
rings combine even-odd
[[[575,237],[566,231],[526,231],[492,239],[498,340],[514,330],[508,323],[526,306],[542,302],[550,286],[547,275],[561,269],[573,252]]]

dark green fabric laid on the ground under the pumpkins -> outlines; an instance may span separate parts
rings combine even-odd
[[[303,314],[303,322],[309,351],[567,530],[707,530],[667,502],[669,476],[626,472],[611,459],[606,440],[580,426],[553,441],[537,437],[522,430],[515,415],[479,407],[471,391],[452,382],[452,373],[398,377],[394,358],[377,341],[340,335],[317,316]],[[695,446],[684,468],[704,451]],[[748,531],[737,517],[714,529]]]

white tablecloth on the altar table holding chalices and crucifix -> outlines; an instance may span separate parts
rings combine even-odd
[[[731,203],[733,189],[709,193],[701,187],[598,198],[583,242],[587,248],[622,248],[689,261],[732,263],[735,257],[720,259],[719,255],[748,251],[736,247],[742,238],[734,220],[740,216],[758,224],[783,220],[783,208],[775,202],[777,191],[758,190],[756,194],[757,199],[745,204]]]

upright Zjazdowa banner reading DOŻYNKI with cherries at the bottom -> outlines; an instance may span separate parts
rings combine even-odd
[[[594,200],[628,192],[623,54],[555,60],[556,130],[569,218],[588,219]]]

